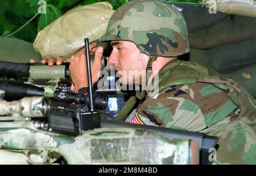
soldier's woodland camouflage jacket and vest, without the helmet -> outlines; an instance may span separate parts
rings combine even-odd
[[[212,70],[177,59],[158,77],[158,87],[151,87],[151,96],[147,94],[127,121],[218,136],[217,163],[256,164],[256,107],[246,90]]]

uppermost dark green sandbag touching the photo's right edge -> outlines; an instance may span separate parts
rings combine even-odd
[[[218,45],[256,39],[256,18],[234,15],[212,27],[188,33],[192,48],[207,49]]]

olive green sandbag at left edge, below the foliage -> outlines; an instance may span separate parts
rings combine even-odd
[[[0,37],[0,61],[27,63],[31,59],[36,62],[41,61],[41,55],[35,51],[32,43],[9,37]]]

